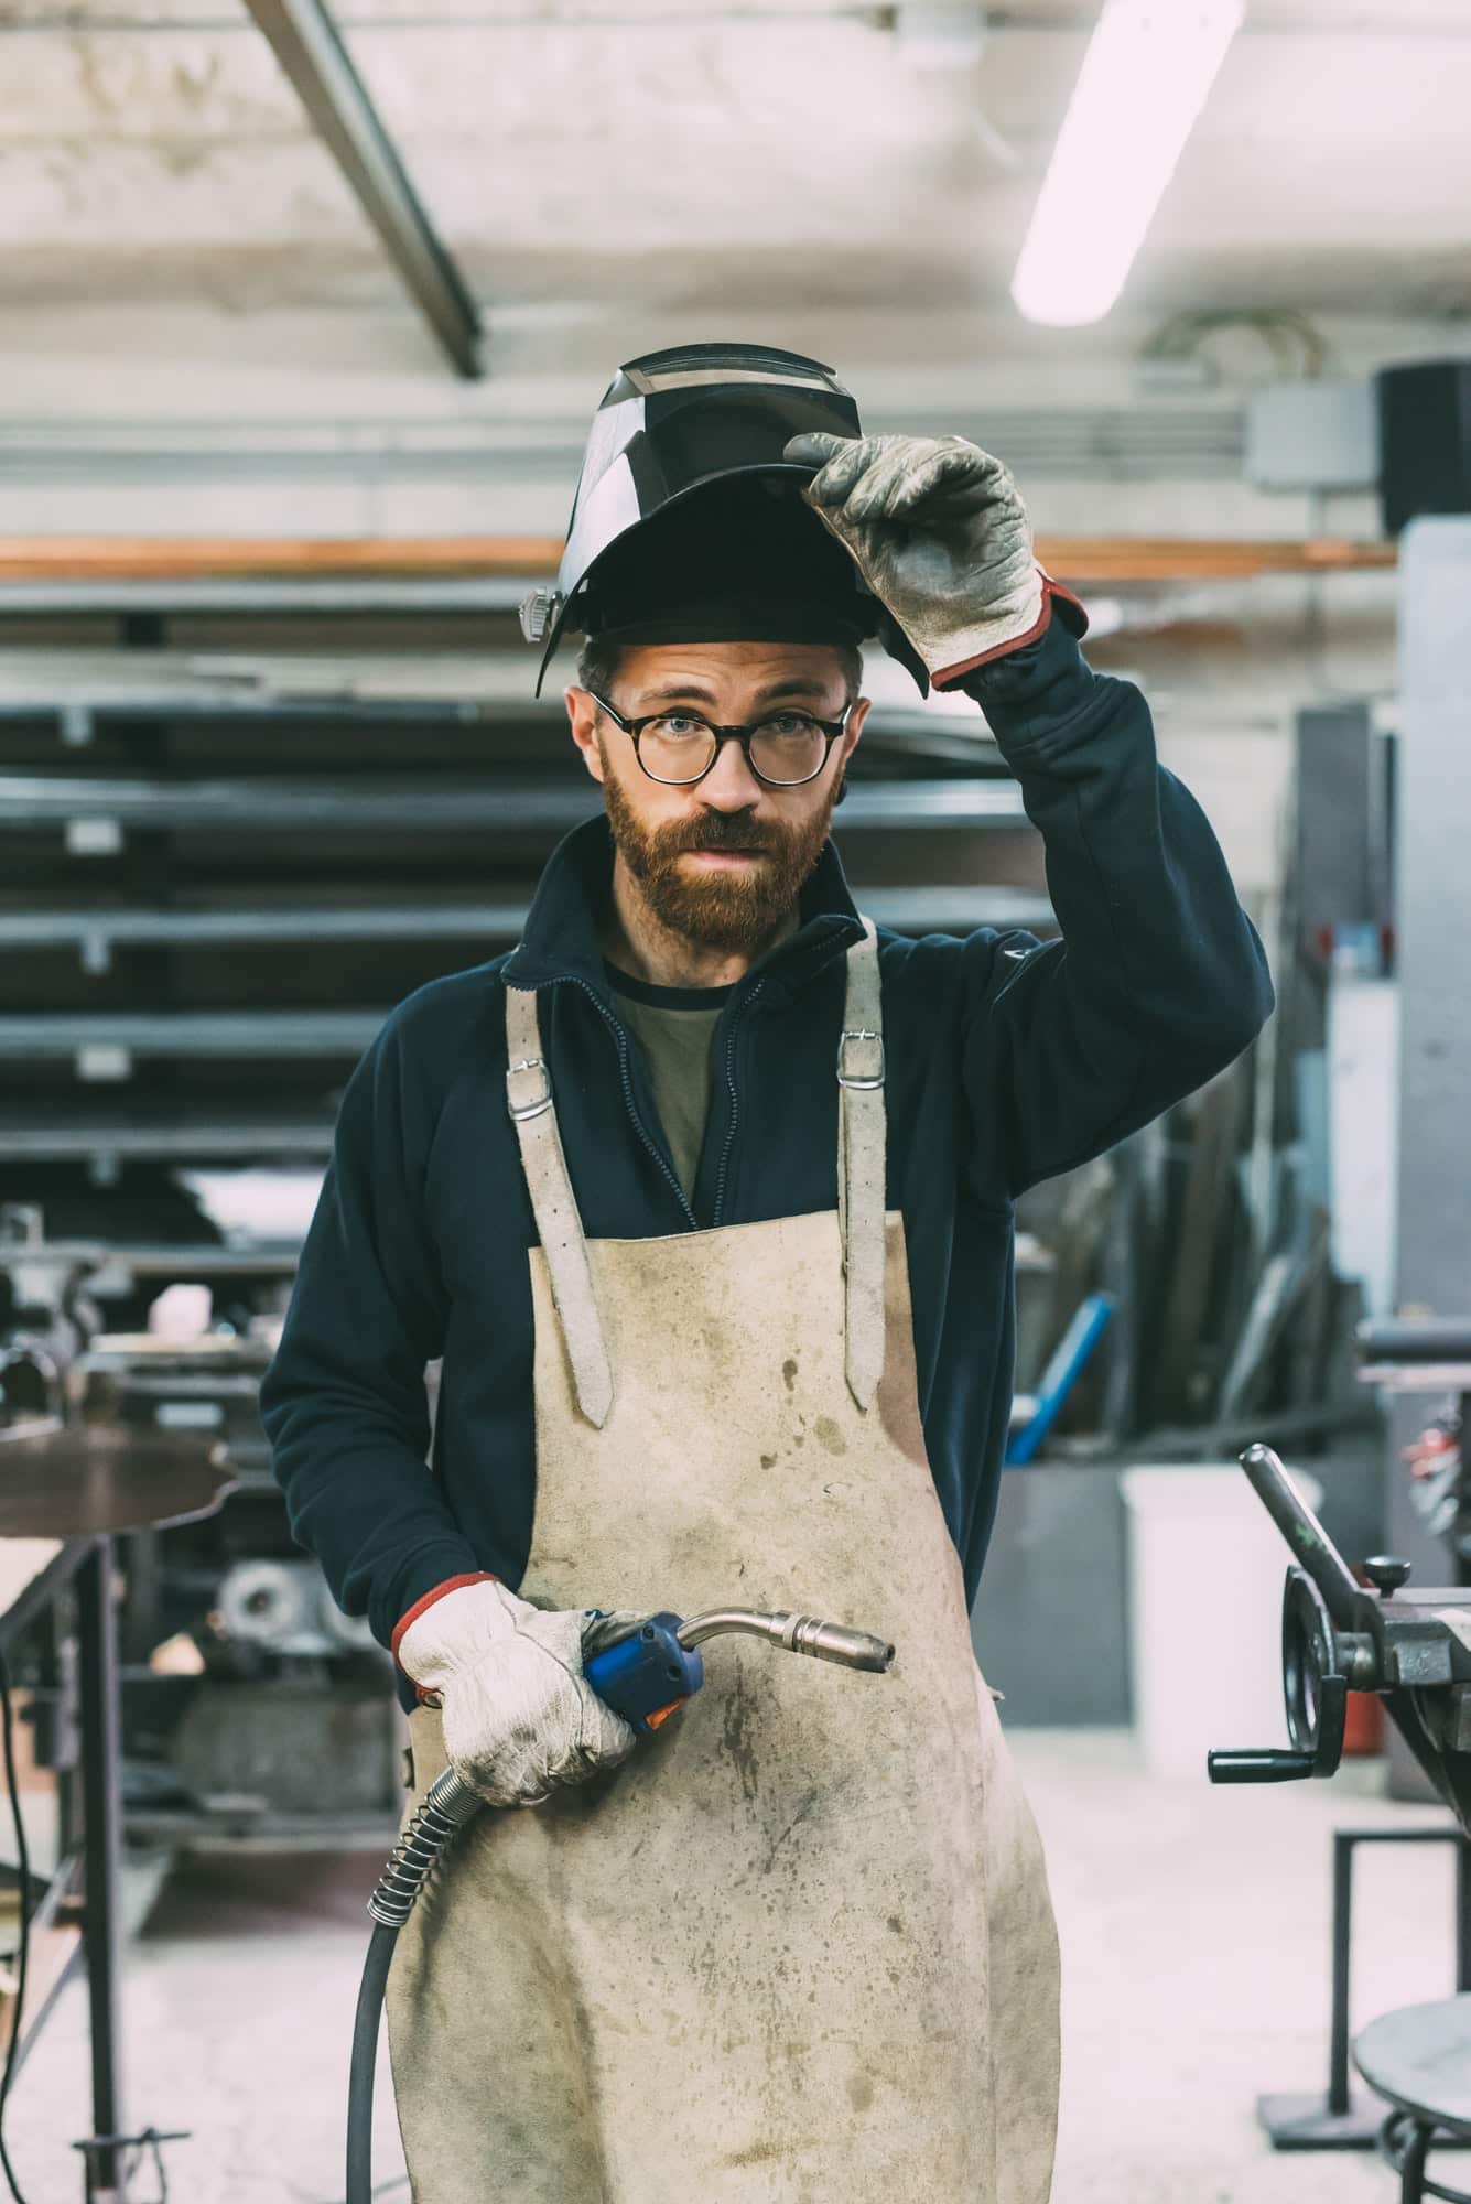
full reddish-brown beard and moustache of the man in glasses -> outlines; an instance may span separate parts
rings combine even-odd
[[[747,811],[696,811],[694,818],[645,827],[619,787],[603,752],[603,796],[614,849],[643,890],[643,899],[672,934],[700,948],[751,957],[777,930],[821,857],[832,811],[843,787],[839,765],[824,804],[786,827],[753,820]],[[680,857],[691,849],[760,851],[740,871],[689,875]]]

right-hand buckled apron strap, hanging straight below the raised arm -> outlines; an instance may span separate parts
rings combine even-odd
[[[863,939],[848,950],[848,998],[837,1042],[837,1210],[843,1232],[848,1391],[872,1406],[883,1375],[883,996],[879,934],[863,919]]]

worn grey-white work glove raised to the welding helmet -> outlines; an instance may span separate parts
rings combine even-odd
[[[1033,558],[1017,485],[965,436],[793,436],[802,496],[905,630],[936,685],[1035,641],[1064,595]],[[1081,611],[1081,606],[1079,606]]]

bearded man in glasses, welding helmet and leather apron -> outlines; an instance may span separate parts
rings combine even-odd
[[[614,383],[562,606],[606,818],[517,950],[368,1051],[264,1386],[295,1534],[396,1653],[416,1796],[454,1763],[500,1807],[390,1981],[418,2204],[1050,2193],[1053,1917],[969,1638],[1013,1201],[1273,996],[1004,467],[815,428],[821,375],[709,348]],[[828,824],[874,630],[984,703],[1059,941],[857,915]],[[733,1602],[898,1660],[722,1640],[652,1737],[588,1688],[588,1609]]]

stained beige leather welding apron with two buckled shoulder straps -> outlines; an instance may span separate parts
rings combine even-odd
[[[586,1243],[533,994],[509,1029],[542,1236],[522,1593],[797,1609],[898,1653],[716,1638],[623,1768],[465,1829],[388,1986],[414,2200],[1046,2204],[1057,1937],[925,1461],[872,928],[839,1212]],[[410,1728],[418,1805],[443,1728]]]

